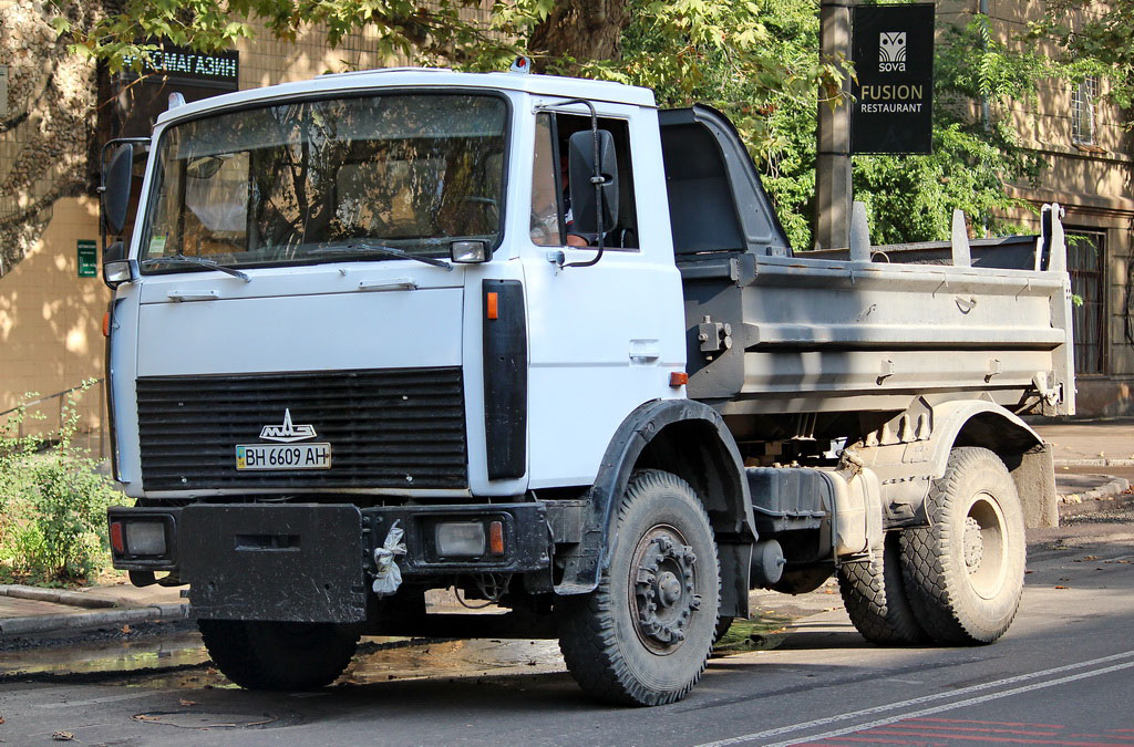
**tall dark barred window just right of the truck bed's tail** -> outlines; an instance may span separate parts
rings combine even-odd
[[[1101,231],[1067,231],[1067,270],[1070,273],[1070,290],[1083,302],[1072,306],[1077,374],[1103,373],[1105,238],[1106,235]]]

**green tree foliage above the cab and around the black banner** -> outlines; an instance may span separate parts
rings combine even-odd
[[[54,2],[66,10],[74,0]],[[1103,63],[1126,70],[1129,84],[1134,0],[1112,5],[1127,8],[1125,16],[1119,9],[1060,36],[1055,9],[1085,2],[1055,0],[1052,14],[1033,26],[1063,45],[1061,62],[1031,48],[1008,49],[983,16],[947,34],[936,68],[933,154],[855,160],[855,194],[868,203],[875,241],[947,238],[954,207],[978,230],[1006,228],[997,215],[1023,203],[1004,185],[1035,179],[1040,169],[1021,147],[1009,104],[1036,95],[1044,77]],[[112,70],[153,48],[139,39],[213,50],[249,36],[253,22],[284,39],[321,25],[332,45],[366,28],[367,43],[374,39],[382,54],[486,70],[526,53],[542,71],[649,86],[663,107],[710,103],[748,145],[793,245],[810,246],[818,108],[844,104],[839,91],[852,75],[845,59],[819,56],[818,0],[492,0],[490,14],[472,12],[484,7],[481,0],[125,0],[93,27],[71,28],[66,19],[58,27],[76,51]],[[1108,46],[1123,33],[1117,51]],[[1128,101],[1128,85],[1112,90],[1116,101]]]

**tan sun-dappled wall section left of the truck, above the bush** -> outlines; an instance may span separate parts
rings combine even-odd
[[[52,394],[103,375],[110,291],[99,277],[78,277],[78,241],[98,240],[98,215],[94,198],[59,200],[35,247],[0,278],[0,411],[26,392]],[[84,400],[84,424],[98,424],[96,396]]]

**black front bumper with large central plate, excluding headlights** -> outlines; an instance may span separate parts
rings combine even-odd
[[[191,614],[205,619],[362,622],[374,549],[396,520],[405,529],[403,579],[458,574],[548,572],[552,536],[542,502],[396,506],[349,503],[196,503],[109,511],[111,524],[160,519],[167,552],[115,552],[115,568],[168,570],[189,584]],[[500,521],[505,552],[479,558],[438,554],[438,521]]]

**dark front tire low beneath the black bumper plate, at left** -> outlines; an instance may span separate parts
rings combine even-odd
[[[217,669],[249,690],[315,690],[333,682],[358,635],[330,622],[197,620]]]

